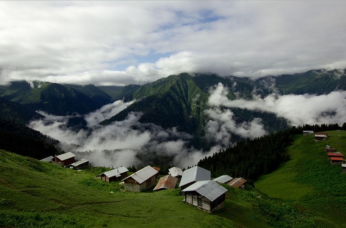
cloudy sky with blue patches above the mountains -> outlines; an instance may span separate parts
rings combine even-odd
[[[346,1],[0,1],[0,84],[346,67]]]

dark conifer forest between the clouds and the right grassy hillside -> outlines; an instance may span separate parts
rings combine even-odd
[[[215,178],[221,175],[242,177],[253,184],[260,175],[269,174],[290,159],[287,148],[292,144],[293,135],[303,134],[305,130],[314,132],[346,130],[346,123],[343,126],[303,125],[263,137],[240,140],[232,147],[204,157],[197,165],[211,171]]]

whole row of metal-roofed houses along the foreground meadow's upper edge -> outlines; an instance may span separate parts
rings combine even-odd
[[[50,156],[41,161],[51,162],[62,167],[82,169],[89,166],[87,159],[77,160],[72,152]],[[194,205],[202,210],[213,212],[224,206],[227,189],[220,185],[228,184],[237,188],[245,188],[246,180],[243,178],[231,178],[228,175],[211,179],[211,172],[199,166],[182,171],[178,167],[169,169],[168,175],[159,178],[160,168],[146,166],[143,169],[128,176],[129,170],[119,167],[100,174],[104,182],[117,182],[125,185],[126,191],[140,192],[153,186],[153,191],[174,189],[177,186],[184,196],[183,202]]]

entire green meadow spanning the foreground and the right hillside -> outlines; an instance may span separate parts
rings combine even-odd
[[[179,189],[126,192],[95,177],[108,168],[76,171],[0,150],[0,227],[346,227],[346,174],[324,152],[345,151],[346,134],[329,133],[323,142],[296,136],[292,159],[255,188],[223,185],[225,206],[214,213],[183,203]]]

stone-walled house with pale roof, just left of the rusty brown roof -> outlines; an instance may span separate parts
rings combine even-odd
[[[125,190],[144,191],[156,184],[157,174],[157,170],[155,170],[151,166],[147,166],[123,180],[125,184]]]

